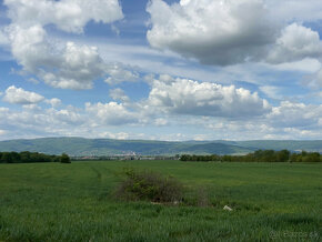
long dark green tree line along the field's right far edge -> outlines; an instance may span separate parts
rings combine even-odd
[[[245,155],[195,155],[182,154],[181,161],[227,161],[227,162],[322,162],[322,155],[319,152],[291,153],[288,150],[258,150]]]

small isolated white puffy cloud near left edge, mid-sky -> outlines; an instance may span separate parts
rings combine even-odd
[[[2,100],[9,103],[33,104],[43,101],[44,98],[36,92],[24,91],[21,88],[11,85],[6,90]]]

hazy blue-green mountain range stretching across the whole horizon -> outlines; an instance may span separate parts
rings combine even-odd
[[[244,154],[255,150],[290,150],[322,152],[322,140],[253,140],[253,141],[150,141],[84,138],[42,138],[0,141],[0,151],[36,151],[69,155],[173,155],[173,154]]]

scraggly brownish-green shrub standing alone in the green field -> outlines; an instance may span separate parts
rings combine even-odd
[[[125,200],[151,202],[179,202],[183,186],[172,177],[162,177],[152,171],[125,171],[127,179],[117,191],[117,196]]]

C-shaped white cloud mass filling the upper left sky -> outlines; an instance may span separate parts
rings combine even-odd
[[[105,64],[98,48],[50,40],[47,24],[68,32],[82,32],[90,20],[110,23],[121,19],[118,0],[6,0],[11,24],[6,28],[12,56],[24,74],[33,74],[53,88],[91,89],[93,81],[109,77],[111,81],[131,81],[134,74],[120,64]],[[122,79],[122,80],[121,80]]]

